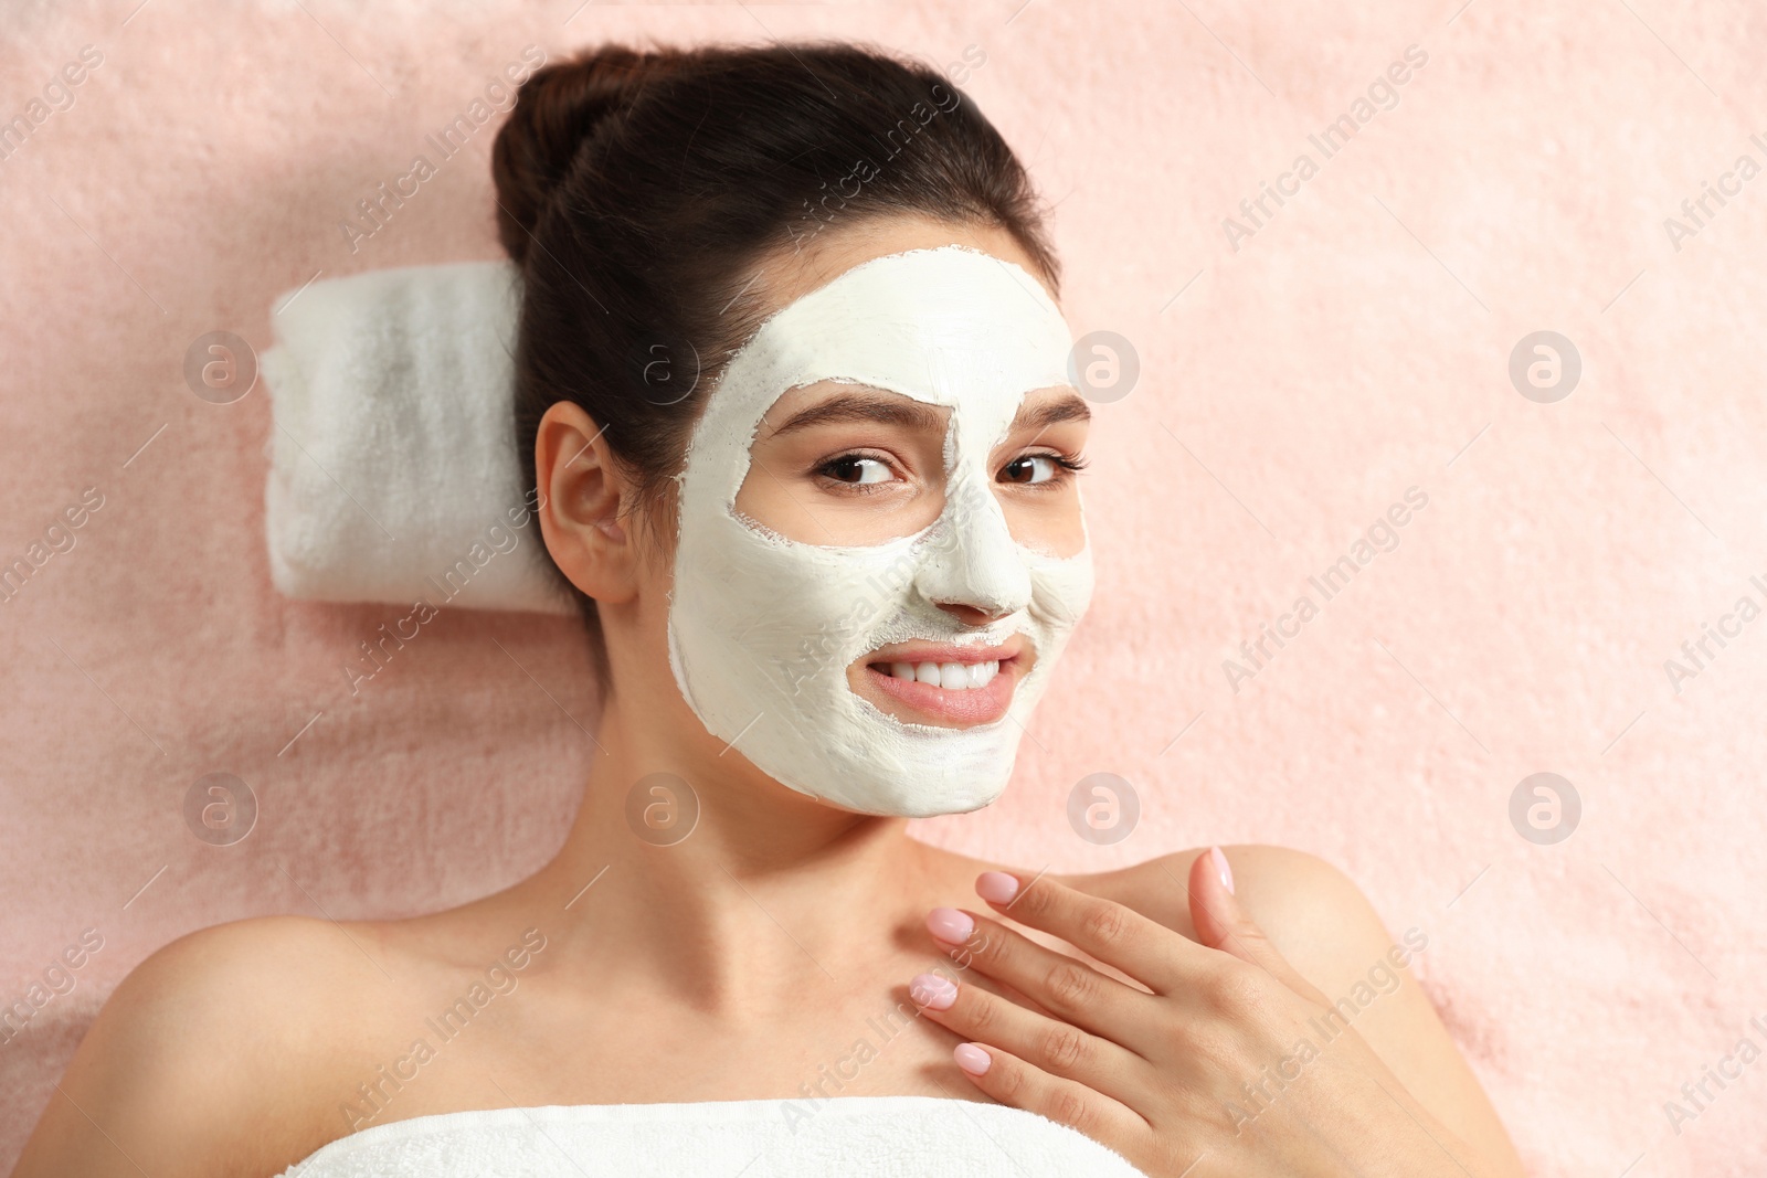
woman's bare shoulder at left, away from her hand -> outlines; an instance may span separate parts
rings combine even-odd
[[[14,1178],[281,1173],[309,1152],[313,1079],[360,1010],[373,938],[256,917],[155,950],[87,1030]]]

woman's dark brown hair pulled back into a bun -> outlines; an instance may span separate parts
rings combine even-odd
[[[974,101],[869,46],[594,48],[523,83],[491,170],[523,274],[523,486],[541,417],[574,401],[657,502],[765,318],[744,298],[755,267],[818,231],[891,214],[998,226],[1060,277],[1030,178]],[[595,602],[576,597],[606,689]]]

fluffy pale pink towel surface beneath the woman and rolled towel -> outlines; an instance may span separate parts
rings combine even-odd
[[[357,643],[405,611],[272,592],[265,392],[198,399],[186,350],[267,346],[272,297],[318,274],[497,256],[495,122],[353,253],[339,221],[525,46],[838,35],[986,57],[967,92],[1058,201],[1071,321],[1141,364],[1097,408],[1099,593],[1018,779],[917,834],[1066,871],[1318,853],[1430,934],[1430,993],[1534,1173],[1758,1173],[1767,1063],[1679,1132],[1663,1106],[1740,1037],[1767,1047],[1767,622],[1709,641],[1679,692],[1665,661],[1767,604],[1767,178],[1679,249],[1665,217],[1767,164],[1767,16],[1458,5],[14,9],[5,118],[83,46],[102,62],[0,161],[0,556],[87,487],[102,507],[0,604],[0,1001],[85,929],[102,948],[0,1047],[0,1164],[154,948],[504,887],[553,853],[590,763],[567,622],[444,611],[350,696]],[[1223,219],[1320,162],[1309,136],[1412,44],[1396,106],[1233,249]],[[1509,380],[1536,330],[1581,355],[1555,404]],[[1235,691],[1223,661],[1318,604],[1308,578],[1414,486],[1399,546]],[[1541,846],[1509,798],[1548,770],[1583,809]],[[210,772],[258,798],[237,846],[186,827]],[[1066,818],[1097,772],[1143,809],[1115,846]]]

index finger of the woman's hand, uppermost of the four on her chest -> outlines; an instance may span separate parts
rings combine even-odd
[[[1048,876],[1021,881],[1004,871],[975,878],[975,894],[1000,915],[1044,933],[1166,994],[1200,964],[1202,950],[1189,938],[1149,920],[1127,904],[1078,892]]]

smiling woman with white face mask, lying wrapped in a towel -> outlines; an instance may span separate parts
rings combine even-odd
[[[850,46],[604,48],[521,88],[495,171],[518,442],[606,687],[576,821],[463,908],[159,950],[16,1174],[640,1173],[664,1121],[654,1173],[712,1123],[785,1173],[869,1111],[997,1141],[970,1173],[1055,1173],[1028,1114],[1087,1173],[1521,1173],[1322,862],[906,837],[998,797],[1090,595],[1057,263],[972,102]],[[527,1137],[475,1167],[493,1121]],[[843,1171],[906,1173],[873,1132]]]

